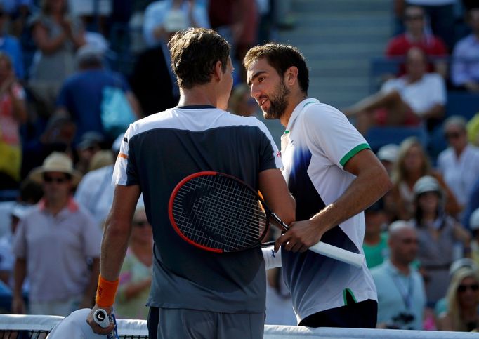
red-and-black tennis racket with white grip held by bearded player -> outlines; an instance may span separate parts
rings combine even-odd
[[[193,173],[176,185],[169,200],[169,218],[185,241],[216,253],[261,246],[271,218],[277,227],[289,230],[249,185],[213,171]],[[356,267],[365,260],[360,253],[322,241],[309,249]]]

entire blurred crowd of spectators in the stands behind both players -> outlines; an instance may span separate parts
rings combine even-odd
[[[428,133],[440,131],[448,144],[437,159],[416,138],[374,149],[394,184],[365,211],[364,250],[377,279],[381,327],[479,327],[479,128],[471,128],[464,117],[444,121],[445,114],[454,114],[445,112],[447,91],[479,92],[479,8],[462,1],[463,29],[445,29],[445,22],[454,19],[452,4],[459,1],[395,1],[398,35],[385,46],[385,56],[405,64],[378,93],[344,109],[365,135],[374,125],[424,126]],[[84,227],[101,230],[112,201],[113,161],[123,139],[102,119],[105,88],[122,93],[134,119],[176,105],[169,36],[185,27],[213,27],[232,44],[238,71],[229,109],[254,115],[257,107],[244,84],[242,56],[254,44],[272,39],[275,27],[294,27],[290,11],[286,0],[0,1],[0,200],[17,201],[9,213],[11,230],[0,239],[0,292],[12,295],[9,288],[15,287],[13,310],[34,312],[25,309],[27,300],[37,312],[66,315],[93,302],[78,294],[94,285],[87,278],[97,270],[93,247],[100,232],[88,230],[91,245],[75,257],[85,262],[77,266],[81,277],[69,273],[77,267],[65,265],[72,280],[58,282],[64,290],[48,286],[55,288],[55,303],[58,291],[65,292],[64,303],[48,308],[40,304],[52,300],[35,292],[43,288],[45,274],[32,274],[40,271],[40,263],[32,262],[44,254],[27,257],[29,246],[39,252],[48,246],[43,239],[29,239],[27,227],[39,222],[35,215],[42,211],[53,220],[44,220],[45,227],[55,227],[63,222],[56,218],[59,211],[69,216],[77,208],[88,220]],[[52,152],[66,167],[48,169]],[[52,210],[46,199],[56,201],[60,210]],[[152,258],[145,253],[151,253],[151,229],[141,206],[133,224],[118,310],[122,317],[143,318],[140,306]],[[13,242],[16,230],[21,232]],[[86,241],[80,239],[76,241]],[[48,255],[67,251],[49,249]],[[472,260],[462,265],[464,258]],[[453,263],[460,267],[452,270]],[[284,309],[289,296],[278,277],[278,270],[268,276],[269,299],[277,299],[270,307]],[[392,287],[397,293],[383,291]],[[267,320],[294,322],[291,312],[270,313]]]

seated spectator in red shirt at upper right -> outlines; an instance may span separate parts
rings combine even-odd
[[[426,15],[424,9],[419,6],[407,6],[405,9],[405,27],[406,32],[393,37],[386,47],[386,56],[405,57],[407,51],[412,47],[421,48],[426,55],[431,58],[444,58],[447,56],[447,47],[438,36],[427,32]],[[446,60],[434,60],[433,65],[429,65],[428,71],[435,71],[447,76]],[[400,75],[405,73],[404,67],[401,67]]]

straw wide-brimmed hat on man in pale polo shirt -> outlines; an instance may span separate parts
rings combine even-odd
[[[44,164],[32,169],[29,177],[35,182],[43,182],[43,175],[46,172],[61,172],[72,176],[73,185],[77,185],[81,180],[81,173],[73,168],[73,162],[67,154],[62,152],[53,152],[45,158]]]

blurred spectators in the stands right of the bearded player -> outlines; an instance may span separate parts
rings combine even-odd
[[[372,127],[421,128],[374,149],[393,188],[365,211],[364,251],[378,289],[379,328],[479,328],[479,7],[474,1],[396,0],[395,34],[377,93],[343,112]],[[448,110],[450,93],[477,98],[473,112]],[[473,117],[471,119],[471,117]],[[440,135],[446,147],[431,152]]]

